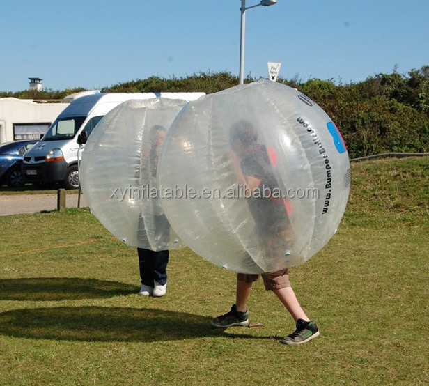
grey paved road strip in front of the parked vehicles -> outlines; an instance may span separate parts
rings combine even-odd
[[[0,195],[0,216],[35,213],[56,209],[56,194],[10,194]],[[67,194],[67,208],[77,208],[77,194]],[[81,195],[80,207],[88,206]]]

